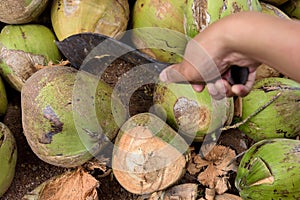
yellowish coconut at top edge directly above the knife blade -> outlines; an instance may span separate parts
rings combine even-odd
[[[82,32],[118,38],[129,20],[127,0],[54,0],[51,21],[59,40]]]

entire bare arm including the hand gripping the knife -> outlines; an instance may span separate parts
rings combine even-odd
[[[198,45],[198,47],[197,47]],[[201,53],[199,53],[201,51]],[[249,67],[250,74],[245,85],[230,86],[220,79],[208,84],[213,96],[247,95],[255,80],[255,69],[265,63],[288,77],[300,81],[300,23],[259,12],[240,12],[225,17],[198,34],[189,42],[182,63],[167,68],[161,79],[167,82],[182,81],[174,76],[174,70],[185,80],[199,83],[194,88],[201,91],[200,84],[215,75],[208,62],[202,62],[205,52],[223,74],[230,65]],[[201,59],[200,59],[200,58]],[[200,73],[199,73],[200,71]],[[210,74],[211,73],[211,74]],[[222,94],[221,94],[222,96]],[[223,95],[224,96],[224,95]]]

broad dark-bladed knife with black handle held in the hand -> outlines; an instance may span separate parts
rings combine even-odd
[[[159,62],[125,42],[98,33],[74,34],[56,45],[74,68],[93,74],[102,73],[114,60],[121,59],[139,66],[140,75],[153,76],[157,80],[159,74],[171,65]],[[234,65],[227,81],[231,85],[245,84],[248,74],[248,68]]]

